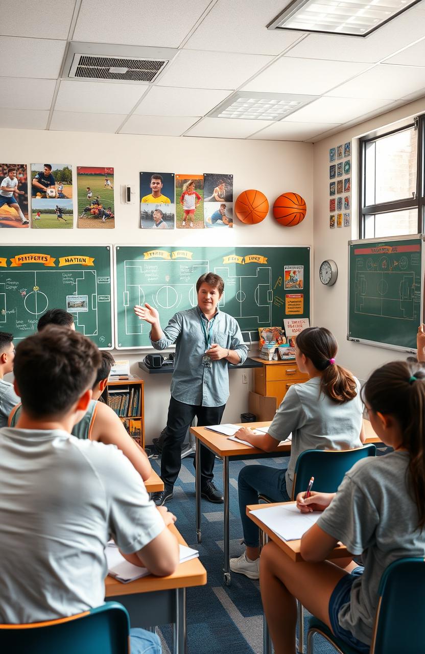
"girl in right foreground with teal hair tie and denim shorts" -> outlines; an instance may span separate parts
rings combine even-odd
[[[295,654],[295,598],[335,636],[369,652],[385,568],[425,556],[425,369],[386,364],[362,395],[373,429],[394,452],[356,463],[336,494],[298,494],[301,511],[326,509],[301,540],[305,563],[293,562],[275,543],[265,545],[260,585],[276,654]],[[364,568],[353,562],[343,570],[326,560],[338,541],[362,554]],[[409,634],[406,639],[408,651]]]

